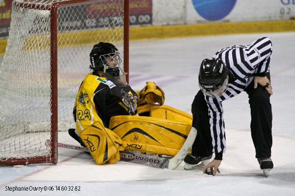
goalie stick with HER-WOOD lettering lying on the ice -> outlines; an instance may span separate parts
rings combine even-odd
[[[190,133],[187,136],[186,141],[180,148],[178,153],[173,158],[160,157],[158,155],[142,154],[140,152],[131,151],[120,151],[120,160],[124,162],[130,162],[140,165],[146,165],[153,168],[168,168],[174,170],[183,161],[184,157],[187,155],[188,151],[192,147],[197,136],[197,130],[192,127]],[[46,141],[47,146],[51,146],[50,140]],[[58,143],[58,147],[70,148],[75,150],[81,150],[88,152],[86,147],[79,147],[69,144]]]

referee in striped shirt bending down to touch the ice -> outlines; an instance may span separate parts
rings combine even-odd
[[[192,103],[193,126],[198,130],[198,135],[192,147],[192,154],[188,154],[184,159],[184,169],[195,169],[202,161],[205,164],[204,172],[208,168],[213,175],[219,172],[218,167],[226,149],[222,101],[233,98],[242,91],[249,97],[251,136],[260,168],[273,168],[270,159],[271,53],[271,40],[263,37],[251,45],[220,49],[212,59],[203,60],[199,72],[201,90]],[[210,162],[212,153],[215,154],[215,158]]]

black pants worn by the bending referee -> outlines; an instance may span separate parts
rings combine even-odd
[[[269,78],[269,75],[267,75]],[[245,89],[251,109],[251,136],[256,151],[256,158],[270,157],[272,146],[272,113],[270,95],[260,85],[254,89],[253,82]],[[208,106],[200,90],[192,103],[193,126],[197,129],[197,138],[192,147],[192,154],[207,157],[212,154],[212,138],[209,124]]]

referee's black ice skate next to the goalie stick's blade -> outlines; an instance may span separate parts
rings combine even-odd
[[[195,170],[195,169],[201,169],[204,166],[206,166],[212,157],[212,154],[208,157],[203,157],[203,156],[195,156],[192,154],[186,155],[184,158],[184,170]]]

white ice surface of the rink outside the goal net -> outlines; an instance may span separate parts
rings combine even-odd
[[[130,43],[130,85],[140,90],[155,81],[165,104],[190,113],[204,58],[221,48],[250,44],[267,36],[273,41],[270,62],[273,112],[272,160],[268,178],[261,175],[250,134],[246,93],[223,103],[227,152],[217,176],[201,171],[154,169],[131,163],[96,166],[83,152],[60,149],[57,165],[0,167],[0,196],[294,196],[295,195],[295,32],[206,36]],[[77,145],[66,133],[59,142]],[[80,191],[6,191],[7,186],[80,186]]]

